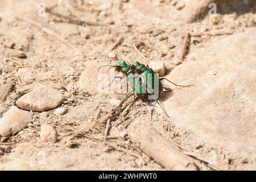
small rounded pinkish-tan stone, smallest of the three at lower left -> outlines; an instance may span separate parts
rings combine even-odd
[[[51,125],[43,124],[41,126],[40,139],[43,142],[56,142],[57,137],[57,131]]]

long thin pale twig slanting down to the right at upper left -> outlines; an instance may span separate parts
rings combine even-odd
[[[54,31],[52,31],[49,28],[43,27],[41,24],[34,22],[31,19],[28,18],[20,18],[20,17],[16,17],[16,19],[21,20],[23,22],[27,22],[32,24],[35,27],[38,27],[40,30],[42,30],[43,32],[46,32],[48,35],[53,36],[54,38],[56,38],[57,40],[59,40],[60,42],[64,43],[65,45],[67,45],[68,47],[72,48],[73,50],[77,51],[80,55],[84,56],[79,49],[77,49],[75,46],[72,46],[71,44],[69,44],[66,40],[64,40],[63,38],[61,38],[59,35],[56,35]],[[85,57],[85,56],[84,56]]]

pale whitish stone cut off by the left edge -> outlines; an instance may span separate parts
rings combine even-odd
[[[31,121],[31,116],[28,111],[20,110],[16,106],[11,108],[0,119],[0,135],[7,137],[17,133],[27,126]]]

